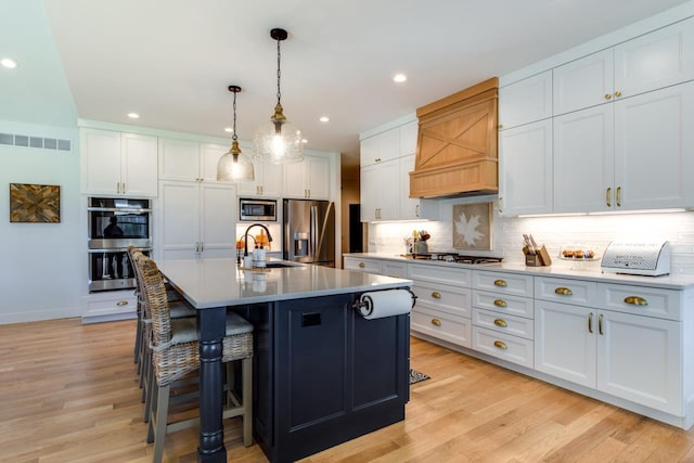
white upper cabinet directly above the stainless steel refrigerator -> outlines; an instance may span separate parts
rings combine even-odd
[[[306,155],[301,163],[283,166],[284,195],[306,200],[330,200],[331,159]]]

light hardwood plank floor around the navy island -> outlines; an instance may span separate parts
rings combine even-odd
[[[132,363],[134,322],[0,325],[0,461],[150,462]],[[694,462],[684,432],[412,338],[407,419],[314,454],[319,462]],[[230,462],[267,462],[226,423]],[[194,462],[197,433],[165,460]]]

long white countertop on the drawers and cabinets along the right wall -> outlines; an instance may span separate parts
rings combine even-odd
[[[661,275],[661,276],[639,276],[618,273],[603,273],[600,270],[574,270],[562,267],[527,267],[522,263],[455,263],[441,260],[412,259],[404,256],[382,253],[351,253],[344,254],[345,257],[356,257],[362,259],[395,260],[408,263],[426,266],[442,266],[451,268],[466,268],[475,270],[500,270],[504,272],[524,273],[537,276],[571,278],[579,280],[597,281],[602,283],[621,283],[637,286],[661,287],[666,290],[687,290],[694,288],[694,275]]]

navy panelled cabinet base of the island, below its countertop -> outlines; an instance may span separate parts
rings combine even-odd
[[[240,309],[254,323],[255,438],[292,462],[404,419],[409,316],[365,320],[346,294]]]

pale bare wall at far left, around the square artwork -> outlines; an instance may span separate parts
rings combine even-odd
[[[0,120],[0,132],[72,140],[72,151],[0,145],[0,323],[81,313],[87,231],[79,195],[78,131]],[[61,187],[60,223],[10,223],[10,183]]]

